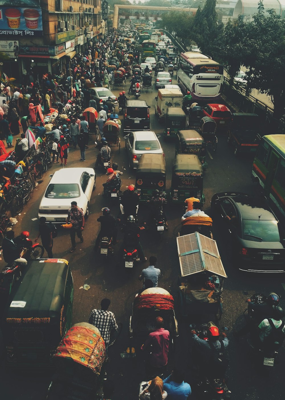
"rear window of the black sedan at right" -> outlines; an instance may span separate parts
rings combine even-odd
[[[278,221],[243,220],[243,238],[253,242],[280,242]]]

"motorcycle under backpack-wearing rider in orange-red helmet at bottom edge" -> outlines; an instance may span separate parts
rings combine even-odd
[[[207,334],[208,329],[211,326],[215,326],[215,324],[213,322],[202,324],[198,330],[195,325],[190,325],[190,328],[196,331],[197,336],[199,336],[200,339],[208,341]],[[223,330],[228,331],[228,328],[225,326]],[[201,354],[198,350],[197,353],[195,353],[195,358],[198,361],[201,360]],[[203,375],[201,377],[201,381],[198,383],[198,388],[201,389],[204,396],[209,395],[209,399],[211,400],[225,400],[231,398],[231,391],[227,387],[225,376],[216,376],[215,378],[210,378],[209,376],[206,376],[203,366],[200,368],[200,374]]]

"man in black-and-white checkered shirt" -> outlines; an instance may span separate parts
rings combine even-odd
[[[107,311],[111,302],[109,299],[103,299],[101,301],[101,310],[92,310],[89,317],[89,324],[96,326],[100,330],[100,334],[104,339],[106,346],[106,354],[108,345],[110,342],[110,333],[114,329],[118,331],[118,325],[112,311]]]

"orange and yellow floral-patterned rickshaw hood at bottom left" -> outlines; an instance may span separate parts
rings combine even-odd
[[[54,357],[72,358],[99,375],[105,355],[105,343],[100,335],[85,326],[73,326],[66,332]]]

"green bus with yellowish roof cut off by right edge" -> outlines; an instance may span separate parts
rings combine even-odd
[[[285,135],[261,138],[253,160],[251,180],[285,217]]]

